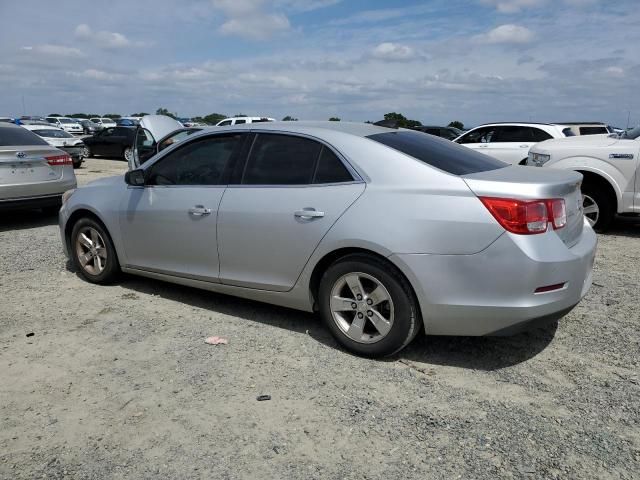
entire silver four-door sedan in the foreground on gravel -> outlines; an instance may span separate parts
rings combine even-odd
[[[423,327],[506,334],[569,312],[596,249],[580,181],[421,132],[251,124],[75,190],[60,230],[90,282],[124,271],[317,310],[344,347],[381,356]]]

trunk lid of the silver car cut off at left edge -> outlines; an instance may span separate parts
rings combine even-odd
[[[50,165],[46,157],[66,155],[49,146],[0,146],[0,185],[48,182],[62,177],[63,165]]]

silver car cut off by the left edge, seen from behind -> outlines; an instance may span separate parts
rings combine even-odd
[[[0,208],[57,210],[76,187],[67,152],[17,125],[0,123]]]

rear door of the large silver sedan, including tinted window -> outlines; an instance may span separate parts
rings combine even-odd
[[[327,145],[258,133],[218,214],[220,281],[287,291],[365,184]],[[234,184],[235,183],[235,184]]]

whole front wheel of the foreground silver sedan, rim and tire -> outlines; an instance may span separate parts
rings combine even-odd
[[[118,257],[106,230],[92,218],[81,218],[71,231],[71,258],[91,283],[110,283],[120,273]]]

